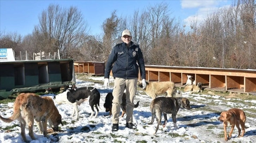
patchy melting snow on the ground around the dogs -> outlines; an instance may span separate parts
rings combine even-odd
[[[90,79],[104,81],[104,77],[90,77]],[[56,105],[60,114],[62,115],[61,132],[51,134],[50,138],[44,137],[39,133],[38,128],[34,127],[34,134],[37,140],[31,140],[28,135],[28,128],[26,128],[26,137],[31,140],[31,143],[79,143],[79,142],[94,142],[94,143],[224,143],[223,124],[217,120],[221,111],[230,108],[240,108],[245,110],[245,114],[252,113],[251,110],[256,109],[255,100],[240,100],[237,98],[224,98],[217,95],[206,94],[190,94],[184,93],[183,97],[190,100],[191,110],[180,109],[177,114],[177,125],[179,129],[173,127],[171,114],[167,114],[168,122],[165,128],[159,126],[157,134],[154,135],[156,129],[156,120],[152,125],[148,125],[151,121],[151,112],[149,109],[151,97],[138,89],[135,97],[135,103],[140,101],[138,108],[134,108],[134,122],[137,125],[136,130],[125,127],[126,115],[120,117],[119,130],[112,132],[112,122],[109,113],[105,112],[103,104],[107,93],[112,92],[112,88],[105,89],[103,84],[93,83],[88,81],[76,80],[77,87],[92,86],[96,87],[100,92],[100,111],[96,118],[90,118],[91,109],[88,102],[81,104],[79,108],[79,118],[75,120],[71,117],[72,105],[61,104]],[[43,96],[55,96],[54,94],[46,94]],[[13,114],[13,103],[0,104],[0,115],[10,117]],[[162,123],[163,123],[162,117]],[[22,143],[23,139],[20,135],[20,127],[18,121],[12,123],[0,122],[0,143]],[[227,142],[241,142],[241,143],[255,143],[256,142],[256,119],[247,116],[245,135],[242,138],[238,136],[238,130],[235,127],[232,138]],[[15,126],[10,130],[6,127]],[[231,127],[227,128],[229,132]]]

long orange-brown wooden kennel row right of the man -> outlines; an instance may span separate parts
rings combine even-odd
[[[229,91],[256,95],[256,70],[145,65],[147,81],[172,81],[184,87],[187,75],[206,90]],[[139,75],[139,79],[141,77]]]

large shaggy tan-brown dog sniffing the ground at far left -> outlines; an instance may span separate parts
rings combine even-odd
[[[39,97],[33,93],[19,94],[13,105],[13,115],[9,118],[0,116],[0,119],[8,123],[19,120],[21,135],[25,142],[29,142],[25,135],[26,124],[29,126],[29,136],[31,139],[36,139],[33,133],[34,120],[44,137],[49,137],[47,121],[54,131],[58,131],[59,124],[62,124],[61,115],[51,97]]]

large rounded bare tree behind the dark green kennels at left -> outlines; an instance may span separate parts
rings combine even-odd
[[[39,16],[38,27],[44,41],[50,44],[45,45],[45,48],[55,52],[59,49],[62,58],[73,57],[69,51],[81,46],[81,37],[87,35],[88,30],[88,25],[77,7],[71,6],[67,9],[53,4]]]

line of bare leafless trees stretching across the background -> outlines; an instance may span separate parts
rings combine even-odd
[[[59,49],[61,59],[106,62],[112,47],[122,42],[122,31],[130,29],[147,65],[256,69],[255,0],[233,0],[231,6],[189,25],[170,15],[166,2],[129,17],[118,17],[114,10],[102,23],[102,34],[90,35],[77,7],[51,4],[39,15],[32,34],[1,31],[0,48],[27,50],[29,60],[40,50]]]

